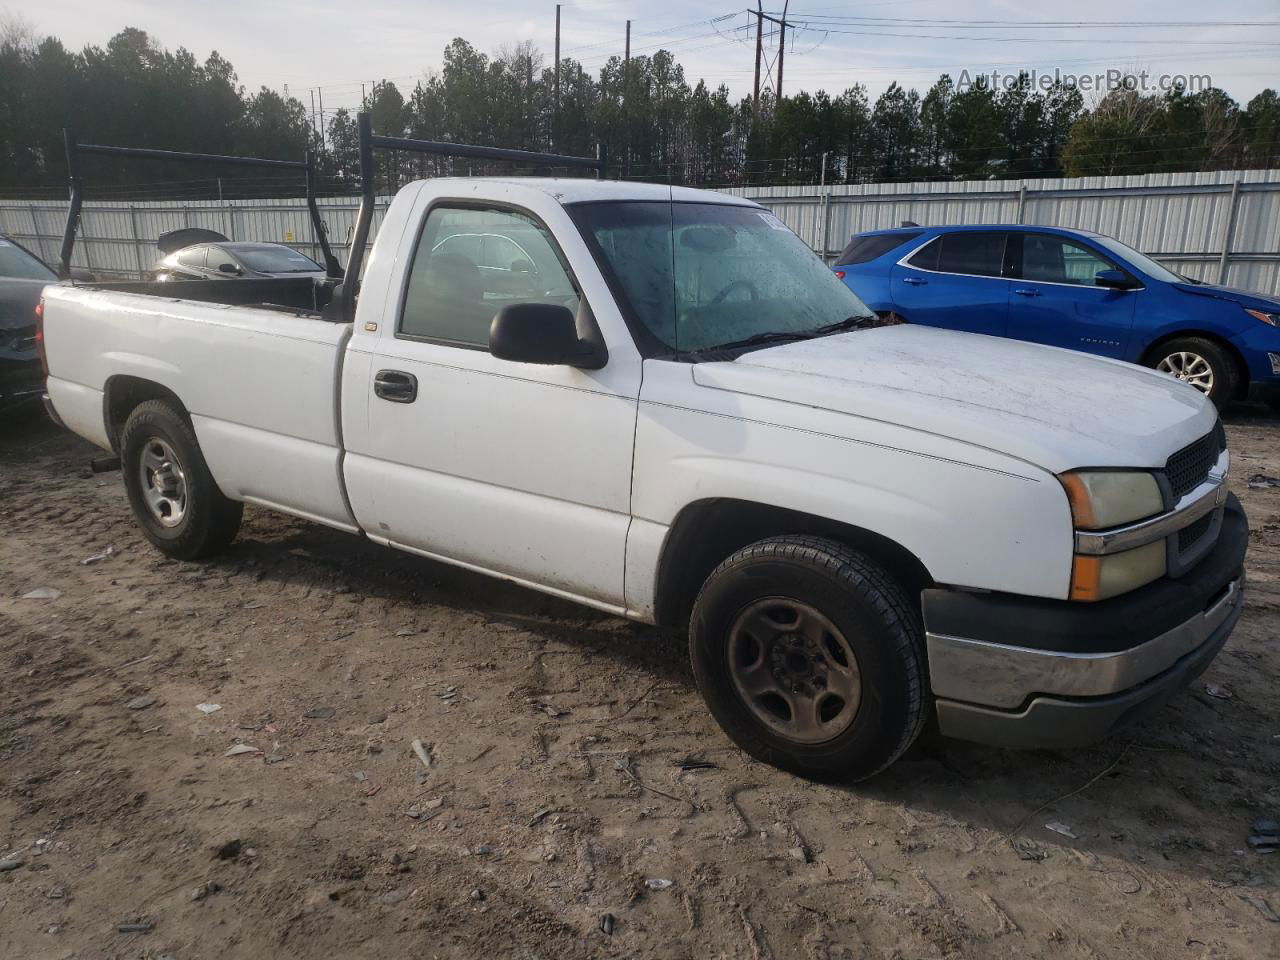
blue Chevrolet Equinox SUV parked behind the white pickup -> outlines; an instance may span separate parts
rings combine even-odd
[[[1100,233],[874,230],[855,234],[833,269],[881,316],[1126,360],[1219,407],[1280,408],[1280,300],[1189,280]]]

